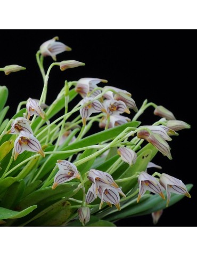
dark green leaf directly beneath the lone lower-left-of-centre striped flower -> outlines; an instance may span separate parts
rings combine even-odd
[[[18,209],[25,209],[32,204],[43,206],[48,202],[59,200],[62,197],[68,199],[75,194],[73,190],[78,187],[78,184],[79,183],[77,182],[64,183],[56,187],[54,190],[52,190],[51,187],[40,188],[39,190],[36,190],[24,197],[17,207]]]

